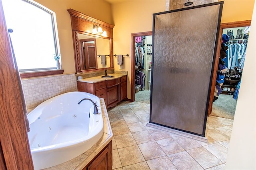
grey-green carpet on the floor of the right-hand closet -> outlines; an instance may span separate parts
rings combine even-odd
[[[212,104],[212,116],[234,119],[236,111],[236,100],[233,95],[220,94],[218,99]]]

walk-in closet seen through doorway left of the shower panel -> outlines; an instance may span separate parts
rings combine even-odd
[[[135,101],[150,104],[152,35],[135,37]]]

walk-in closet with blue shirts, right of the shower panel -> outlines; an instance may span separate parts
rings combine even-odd
[[[211,115],[234,119],[250,26],[223,29]]]

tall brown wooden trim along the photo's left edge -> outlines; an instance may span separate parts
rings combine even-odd
[[[0,1],[0,139],[7,169],[34,169],[16,69]],[[0,167],[4,169],[4,167]]]

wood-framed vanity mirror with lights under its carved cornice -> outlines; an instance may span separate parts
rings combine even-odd
[[[76,74],[114,69],[113,27],[109,23],[68,9],[74,45]],[[101,27],[104,33],[93,33],[94,27]]]

